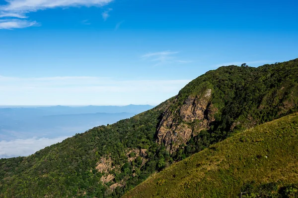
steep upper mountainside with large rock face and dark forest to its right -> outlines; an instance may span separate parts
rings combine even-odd
[[[297,65],[298,59],[207,72],[183,88],[165,110],[157,130],[158,143],[174,151],[202,130],[224,139],[233,131],[295,112]]]

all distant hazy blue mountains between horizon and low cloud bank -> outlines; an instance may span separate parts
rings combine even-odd
[[[0,108],[0,141],[72,136],[151,109],[150,105]]]

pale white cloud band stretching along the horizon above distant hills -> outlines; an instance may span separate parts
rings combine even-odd
[[[0,76],[0,105],[159,104],[175,96],[190,80],[115,80],[65,76]]]

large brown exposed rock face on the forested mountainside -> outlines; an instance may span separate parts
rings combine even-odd
[[[179,145],[185,144],[193,135],[208,129],[214,121],[217,109],[210,102],[212,90],[207,89],[202,96],[189,96],[183,105],[171,111],[167,108],[157,128],[157,143],[164,143],[172,153]],[[174,103],[177,102],[177,98]]]

